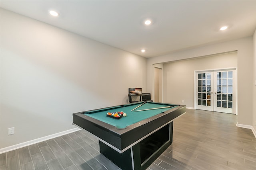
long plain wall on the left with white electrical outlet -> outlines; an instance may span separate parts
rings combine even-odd
[[[72,113],[146,90],[144,57],[7,10],[0,19],[0,148],[73,129]]]

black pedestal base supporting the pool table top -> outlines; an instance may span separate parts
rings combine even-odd
[[[160,154],[162,154],[162,152],[164,152],[164,150],[166,150],[172,144],[172,133],[173,121],[122,153],[117,152],[108,145],[99,141],[100,153],[102,153],[106,158],[111,160],[122,170],[146,170],[146,168],[148,168],[148,166],[150,166],[150,164],[152,164],[152,162],[154,162],[154,160],[156,160],[156,158],[158,158],[158,156],[160,156]],[[164,137],[162,138],[161,136]],[[150,147],[146,146],[145,148],[143,145],[147,144],[148,141],[155,141],[156,138],[158,140],[159,138],[162,138],[166,142],[163,142],[161,146],[158,145],[160,147],[154,149],[157,151],[153,151],[154,153],[151,156],[146,157],[147,159],[142,162],[141,155],[145,153],[148,154],[146,150],[150,149]],[[146,152],[144,152],[144,150]]]

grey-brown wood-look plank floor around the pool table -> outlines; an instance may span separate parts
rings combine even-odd
[[[236,115],[186,109],[174,120],[173,143],[147,170],[256,170],[256,139]],[[120,170],[97,139],[77,131],[0,154],[0,170]]]

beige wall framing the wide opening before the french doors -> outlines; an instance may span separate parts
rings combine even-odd
[[[214,55],[225,53],[228,51],[237,51],[237,76],[238,76],[238,123],[242,125],[252,125],[253,117],[253,38],[245,37],[224,43],[217,43],[213,45],[206,45],[204,47],[197,47],[194,49],[184,50],[168,55],[152,57],[148,59],[148,79],[147,91],[152,93],[154,98],[154,64],[168,63],[170,61],[177,61],[182,59],[192,59],[194,57],[202,57],[207,55]],[[164,91],[164,95],[168,92]],[[165,98],[165,97],[164,97]],[[165,101],[164,101],[165,102]],[[180,99],[173,101],[173,103],[180,103]]]

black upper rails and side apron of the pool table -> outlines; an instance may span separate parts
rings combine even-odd
[[[143,103],[143,102],[141,102]],[[138,103],[137,103],[138,104]],[[135,105],[128,104],[128,105]],[[125,105],[125,106],[128,106]],[[164,105],[164,104],[163,104]],[[168,104],[170,105],[170,104]],[[186,112],[184,105],[173,105],[164,113],[154,115],[145,120],[139,121],[132,125],[129,125],[126,129],[117,129],[115,126],[94,119],[87,115],[84,115],[84,112],[93,112],[99,109],[82,111],[78,113],[73,113],[73,124],[78,127],[85,129],[98,137],[100,141],[109,145],[113,149],[122,153],[127,150],[129,147],[135,145],[142,139],[149,136],[152,132],[161,128],[162,126],[170,123],[176,117],[184,114]],[[119,107],[119,106],[114,106]],[[124,106],[121,106],[124,107]],[[106,110],[110,107],[106,107]],[[102,108],[105,109],[105,108]]]

